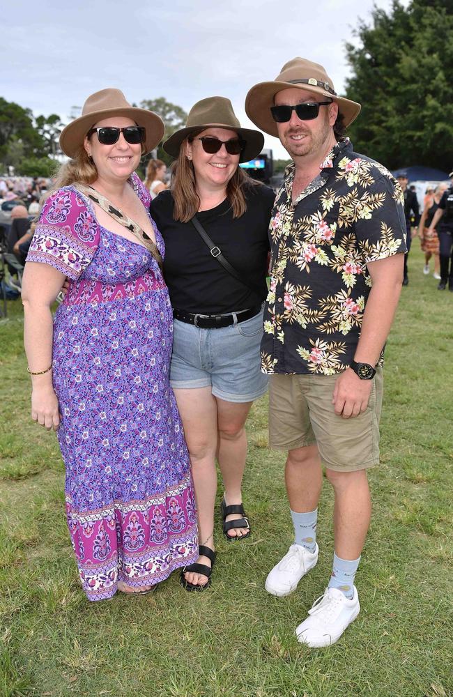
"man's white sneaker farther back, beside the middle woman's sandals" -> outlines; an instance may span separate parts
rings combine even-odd
[[[291,544],[284,558],[268,573],[264,588],[278,597],[292,593],[302,576],[316,566],[318,551],[317,544],[313,553],[300,544]]]

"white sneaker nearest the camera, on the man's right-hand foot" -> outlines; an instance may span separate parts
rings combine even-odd
[[[357,588],[354,586],[352,600],[348,600],[341,590],[326,588],[324,595],[315,600],[309,617],[295,630],[302,644],[311,648],[330,646],[339,640],[348,625],[360,613]]]

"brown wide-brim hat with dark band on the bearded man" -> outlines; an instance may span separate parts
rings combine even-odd
[[[350,125],[360,113],[360,104],[346,97],[339,97],[335,92],[332,80],[323,66],[312,63],[305,58],[293,58],[285,63],[282,71],[272,82],[259,82],[250,89],[245,98],[245,113],[250,121],[269,135],[278,137],[277,123],[270,113],[277,92],[284,89],[298,89],[311,92],[321,97],[327,97],[337,102],[339,113],[344,116],[344,125]]]

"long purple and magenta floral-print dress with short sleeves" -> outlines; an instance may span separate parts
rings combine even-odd
[[[148,210],[149,193],[130,183]],[[164,254],[158,230],[156,242]],[[56,311],[53,380],[62,415],[66,507],[90,600],[117,582],[159,583],[198,556],[181,419],[169,385],[173,316],[151,252],[101,227],[89,199],[47,199],[27,261],[70,279]]]

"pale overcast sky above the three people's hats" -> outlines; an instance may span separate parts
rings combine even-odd
[[[323,64],[341,94],[344,44],[356,40],[360,19],[370,22],[374,4],[388,10],[391,0],[9,0],[0,15],[0,96],[67,123],[73,106],[105,87],[137,104],[163,96],[186,112],[222,95],[252,128],[248,89],[275,79],[294,56]],[[266,147],[287,157],[275,138]]]

